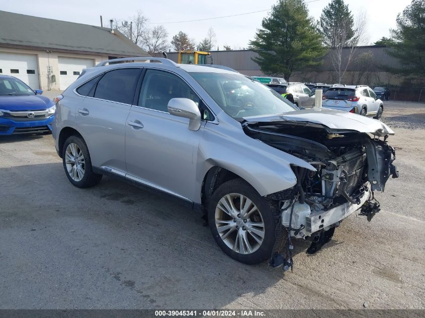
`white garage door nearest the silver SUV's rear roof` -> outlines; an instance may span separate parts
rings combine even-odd
[[[78,78],[83,68],[94,66],[94,60],[74,57],[58,57],[59,88],[66,89]]]

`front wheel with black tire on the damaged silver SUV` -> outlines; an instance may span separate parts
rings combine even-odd
[[[277,202],[261,197],[243,179],[220,185],[208,206],[208,223],[218,246],[244,264],[258,264],[271,256],[278,215]]]

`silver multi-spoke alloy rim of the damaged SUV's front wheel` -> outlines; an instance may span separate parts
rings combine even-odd
[[[257,205],[239,193],[223,196],[215,209],[221,240],[233,251],[251,254],[263,244],[265,225]]]

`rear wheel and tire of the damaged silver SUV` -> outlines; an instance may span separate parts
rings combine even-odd
[[[62,163],[68,180],[78,188],[94,186],[102,179],[102,174],[93,172],[89,149],[79,136],[70,136],[62,148]]]

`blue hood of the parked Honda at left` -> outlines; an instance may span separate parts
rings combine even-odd
[[[43,111],[54,106],[46,96],[0,96],[0,110],[11,112]]]

